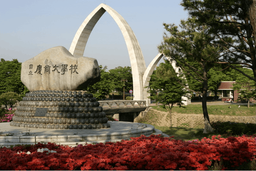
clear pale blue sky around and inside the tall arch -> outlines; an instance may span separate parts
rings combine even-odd
[[[163,23],[187,19],[180,0],[0,0],[0,58],[24,62],[57,46],[69,50],[86,17],[101,3],[117,11],[136,35],[146,67],[159,53]],[[108,12],[95,25],[83,56],[114,69],[130,66],[123,35]],[[161,60],[160,62],[163,62]]]

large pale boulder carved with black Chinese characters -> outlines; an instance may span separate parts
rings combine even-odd
[[[100,80],[94,58],[74,57],[64,47],[54,47],[22,63],[21,80],[29,91],[82,90]]]

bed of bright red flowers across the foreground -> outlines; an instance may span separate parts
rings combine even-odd
[[[69,147],[35,144],[0,149],[2,170],[207,170],[211,161],[229,162],[231,167],[248,162],[256,155],[253,137],[229,137],[184,142],[151,135]],[[37,152],[48,148],[57,153]],[[20,153],[24,152],[24,153]],[[31,154],[26,154],[30,152]],[[18,154],[20,153],[20,154]]]

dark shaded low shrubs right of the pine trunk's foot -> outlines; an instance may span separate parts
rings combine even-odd
[[[227,134],[229,136],[242,136],[256,134],[255,123],[236,123],[236,122],[212,122],[212,128],[219,134]]]

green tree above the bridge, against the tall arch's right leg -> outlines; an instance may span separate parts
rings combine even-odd
[[[123,95],[124,92],[128,92],[133,89],[133,75],[132,68],[127,67],[116,67],[115,69],[109,70],[112,80],[114,81],[115,90]]]

